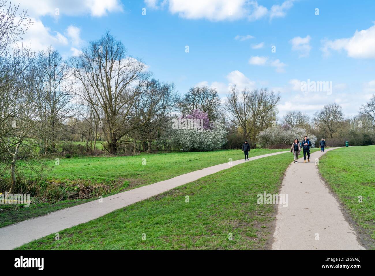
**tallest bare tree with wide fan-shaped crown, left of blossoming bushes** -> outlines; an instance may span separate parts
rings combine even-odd
[[[97,41],[90,42],[69,66],[79,81],[77,91],[87,105],[93,107],[96,119],[102,123],[107,139],[106,150],[117,153],[123,138],[140,127],[132,114],[135,97],[149,78],[145,64],[127,56],[127,50],[108,31]]]

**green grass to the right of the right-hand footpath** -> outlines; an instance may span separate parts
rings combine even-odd
[[[375,249],[375,145],[329,151],[320,158],[319,171]]]

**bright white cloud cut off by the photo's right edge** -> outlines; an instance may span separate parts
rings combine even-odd
[[[348,57],[375,58],[375,25],[367,30],[354,33],[352,37],[336,40],[322,40],[321,50],[324,55],[330,54],[330,49],[335,51],[345,50]]]

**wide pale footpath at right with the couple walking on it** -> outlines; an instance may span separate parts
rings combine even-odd
[[[321,179],[322,164],[315,164],[316,158],[333,149],[312,153],[310,163],[303,163],[302,156],[288,167],[280,191],[288,194],[288,207],[278,205],[272,249],[365,249]]]

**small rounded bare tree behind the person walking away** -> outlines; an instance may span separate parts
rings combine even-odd
[[[314,124],[333,138],[344,125],[342,107],[336,103],[325,105],[321,111],[314,114]]]

